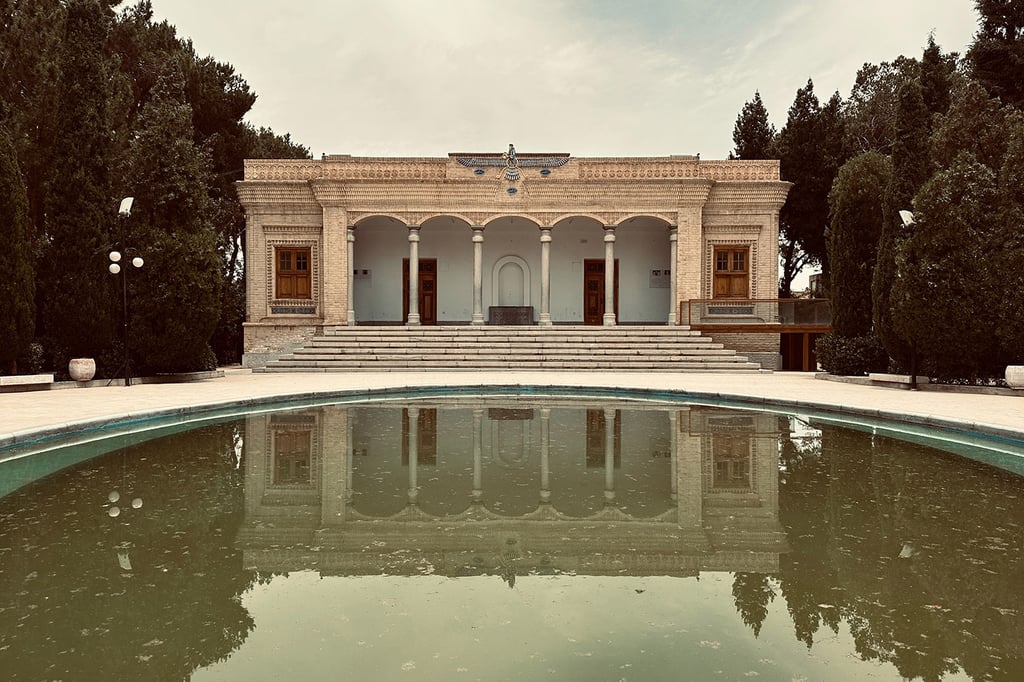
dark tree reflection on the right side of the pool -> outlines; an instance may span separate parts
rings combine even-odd
[[[858,655],[906,679],[1024,679],[1020,477],[835,427],[781,458],[778,582],[798,639],[845,621]]]

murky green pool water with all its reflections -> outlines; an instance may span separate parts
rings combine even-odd
[[[1024,479],[863,427],[506,397],[122,444],[0,499],[4,679],[1024,679]]]

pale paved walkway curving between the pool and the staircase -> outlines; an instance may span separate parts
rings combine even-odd
[[[276,396],[332,397],[417,386],[568,386],[678,391],[700,397],[823,409],[1024,439],[1024,395],[979,395],[862,386],[813,374],[645,374],[569,372],[392,372],[253,374],[181,384],[134,384],[0,393],[0,447],[53,434],[161,415],[266,402]],[[3,459],[0,453],[0,459]]]

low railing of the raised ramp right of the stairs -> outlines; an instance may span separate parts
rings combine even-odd
[[[827,298],[693,298],[679,304],[679,319],[690,327],[828,327]]]

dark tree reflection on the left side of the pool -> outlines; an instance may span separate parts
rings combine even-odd
[[[237,437],[238,424],[176,434],[0,501],[5,679],[186,679],[245,641]],[[108,496],[126,482],[145,504],[112,518]]]

